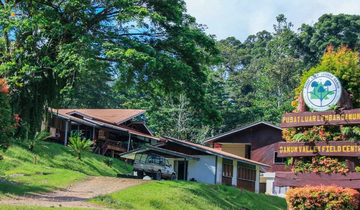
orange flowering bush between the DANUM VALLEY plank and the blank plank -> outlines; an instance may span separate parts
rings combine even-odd
[[[324,173],[342,173],[345,174],[349,172],[348,167],[346,166],[345,160],[339,158],[330,158],[330,157],[307,157],[306,160],[298,161],[297,165],[291,169],[294,173],[303,173],[303,172],[324,172]]]

